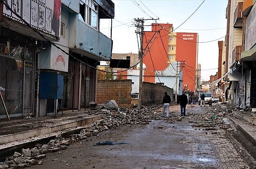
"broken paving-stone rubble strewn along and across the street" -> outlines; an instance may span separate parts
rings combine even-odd
[[[114,101],[115,102],[115,101]],[[116,109],[114,102],[108,102],[112,104],[112,108]],[[106,105],[105,105],[106,106]],[[105,107],[104,106],[104,107]],[[194,106],[193,106],[194,107]],[[111,109],[111,106],[107,106]],[[144,107],[141,110],[133,108],[120,108],[118,111],[112,111],[107,109],[100,110],[86,110],[85,114],[99,115],[103,114],[101,120],[97,120],[92,123],[90,127],[87,127],[80,131],[79,134],[69,135],[68,138],[62,138],[61,135],[57,135],[54,139],[50,140],[48,144],[36,144],[33,149],[22,149],[21,153],[15,152],[14,155],[7,157],[6,161],[0,165],[0,169],[9,168],[23,168],[31,165],[42,165],[43,162],[39,161],[46,157],[48,152],[59,152],[60,150],[67,149],[69,145],[80,142],[80,140],[88,141],[91,136],[99,136],[99,132],[104,130],[116,130],[125,124],[140,124],[145,125],[152,122],[152,120],[163,120],[167,123],[177,123],[183,119],[189,120],[192,123],[192,127],[202,128],[202,130],[216,130],[217,128],[228,129],[225,117],[227,111],[220,105],[205,108],[205,113],[191,113],[187,112],[184,118],[180,117],[180,113],[177,113],[179,106],[170,106],[170,116],[161,117],[162,106],[155,106],[152,108]],[[174,127],[174,126],[173,126]],[[163,127],[158,127],[163,128]],[[196,130],[196,129],[195,129]],[[206,132],[208,134],[208,132]],[[217,134],[211,132],[211,134]],[[98,142],[94,145],[115,145],[115,144],[127,144],[127,143],[113,143],[111,141]]]

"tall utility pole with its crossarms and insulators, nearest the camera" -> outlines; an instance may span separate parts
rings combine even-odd
[[[143,36],[144,36],[144,20],[159,20],[159,19],[135,19],[137,30],[135,31],[136,34],[140,35],[140,51],[139,51],[139,57],[140,57],[140,78],[139,78],[139,95],[138,95],[138,108],[142,108],[142,101],[141,101],[141,96],[142,96],[142,85],[143,85]],[[150,25],[147,25],[150,26]]]

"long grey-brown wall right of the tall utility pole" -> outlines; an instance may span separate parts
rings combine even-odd
[[[143,82],[142,105],[162,104],[164,92],[167,92],[173,100],[173,89],[155,83]]]

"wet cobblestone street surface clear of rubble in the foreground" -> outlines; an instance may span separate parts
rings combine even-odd
[[[204,113],[195,106],[188,112]],[[173,112],[178,114],[178,112]],[[172,115],[172,113],[171,113]],[[230,142],[225,130],[192,127],[196,119],[181,122],[153,120],[147,125],[125,125],[104,131],[66,150],[47,154],[42,166],[33,169],[243,169],[250,168]],[[111,140],[123,145],[93,146]]]

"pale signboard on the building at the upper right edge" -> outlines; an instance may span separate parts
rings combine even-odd
[[[246,17],[246,30],[244,50],[251,49],[256,44],[256,4],[254,3],[251,12]]]

